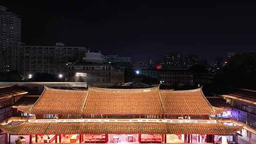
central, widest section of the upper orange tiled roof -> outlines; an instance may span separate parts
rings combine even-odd
[[[90,88],[84,114],[162,114],[159,89]]]

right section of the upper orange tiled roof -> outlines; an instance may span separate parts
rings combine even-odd
[[[221,108],[212,107],[201,88],[195,90],[160,91],[166,114],[210,115],[219,114]]]

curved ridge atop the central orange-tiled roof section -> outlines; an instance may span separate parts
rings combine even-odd
[[[88,89],[89,90],[89,89]],[[144,89],[107,89],[107,88],[98,88],[90,87],[90,90],[95,91],[112,91],[112,92],[148,92],[148,91],[158,91],[159,87],[144,88]]]

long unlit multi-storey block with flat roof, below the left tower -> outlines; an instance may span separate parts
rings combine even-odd
[[[81,61],[85,53],[85,47],[57,43],[55,46],[12,45],[7,51],[6,71],[18,70],[25,78],[37,72],[60,74],[68,62]]]

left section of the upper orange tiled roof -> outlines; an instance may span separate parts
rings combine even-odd
[[[45,88],[31,107],[32,114],[82,114],[86,90],[57,90]]]

